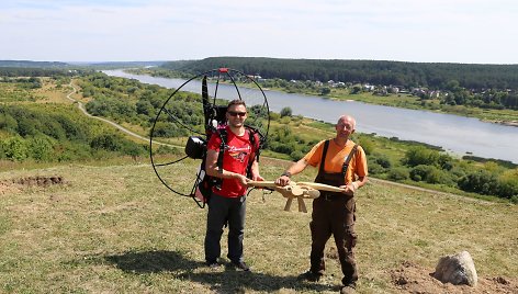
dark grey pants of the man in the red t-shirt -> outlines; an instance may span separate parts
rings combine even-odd
[[[228,222],[228,259],[243,261],[243,238],[245,236],[246,196],[229,199],[212,194],[209,201],[205,234],[205,260],[215,262],[219,258],[219,241],[223,227]]]

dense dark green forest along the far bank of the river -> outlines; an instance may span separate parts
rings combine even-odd
[[[171,61],[165,68],[203,72],[229,67],[262,78],[327,82],[361,82],[405,88],[446,89],[458,81],[466,89],[518,89],[518,65],[425,64],[384,60],[278,59],[266,57],[211,57]]]

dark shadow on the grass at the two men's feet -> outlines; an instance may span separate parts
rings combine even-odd
[[[108,256],[104,259],[124,272],[135,274],[168,272],[179,280],[206,284],[216,293],[244,292],[246,289],[264,292],[274,292],[281,289],[316,292],[338,290],[338,285],[301,281],[296,275],[275,276],[254,272],[254,269],[251,272],[236,271],[229,264],[211,270],[204,262],[191,260],[174,251],[127,252],[120,256]]]

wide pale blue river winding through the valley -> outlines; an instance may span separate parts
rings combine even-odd
[[[109,76],[124,77],[140,82],[178,88],[185,80],[132,75],[122,70],[104,70]],[[225,91],[235,91],[232,86],[219,84]],[[182,90],[200,93],[201,82],[193,80]],[[257,90],[258,91],[258,90]],[[357,118],[357,129],[375,133],[384,137],[416,140],[442,147],[457,155],[472,154],[483,158],[496,158],[518,163],[518,127],[485,123],[477,118],[429,111],[381,106],[357,101],[333,101],[320,97],[283,93],[264,90],[270,110],[279,112],[285,106],[294,115],[336,123],[341,114]]]

